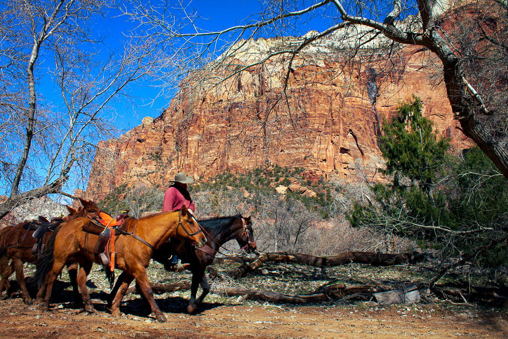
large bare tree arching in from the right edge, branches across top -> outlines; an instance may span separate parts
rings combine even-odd
[[[213,32],[198,27],[200,13],[187,3],[157,7],[139,2],[125,13],[145,27],[148,36],[166,44],[165,52],[175,62],[165,70],[172,80],[183,80],[181,98],[177,99],[189,105],[198,103],[206,91],[224,93],[234,88],[243,72],[257,72],[268,60],[278,58],[284,65],[282,88],[273,94],[269,107],[252,118],[261,121],[259,134],[271,112],[288,115],[295,128],[298,103],[290,90],[291,76],[302,58],[312,58],[316,46],[342,55],[346,61],[361,57],[372,60],[379,55],[377,61],[387,65],[394,63],[392,57],[401,45],[421,46],[440,61],[440,79],[462,131],[508,177],[506,2],[323,0],[306,4],[266,1],[263,12]],[[288,37],[299,34],[297,20],[315,17],[329,20],[329,27],[303,37]],[[331,36],[335,44],[327,42]],[[263,37],[272,39],[266,44],[255,43],[254,39]]]

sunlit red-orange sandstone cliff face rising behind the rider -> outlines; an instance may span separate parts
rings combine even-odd
[[[255,45],[267,50],[271,43],[260,39]],[[213,89],[206,82],[182,84],[161,116],[98,145],[86,196],[103,198],[123,183],[166,186],[179,171],[198,179],[267,163],[355,180],[355,162],[370,172],[380,166],[380,124],[413,94],[452,145],[467,146],[444,86],[431,80],[439,63],[428,54],[404,47],[397,58],[374,55],[370,64],[302,57],[292,66],[288,96],[282,95],[284,58],[250,67]],[[260,53],[250,55],[237,64]]]

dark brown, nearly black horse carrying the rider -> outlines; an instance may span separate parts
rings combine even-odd
[[[177,252],[178,258],[190,263],[190,271],[192,271],[193,275],[190,286],[190,299],[187,306],[188,313],[196,312],[198,305],[203,302],[205,296],[210,292],[205,269],[213,262],[213,258],[219,251],[220,246],[229,240],[236,239],[242,250],[247,252],[256,250],[250,217],[243,218],[241,215],[236,215],[234,217],[213,218],[200,220],[199,224],[205,231],[207,238],[207,242],[203,247],[196,249],[188,241],[185,241],[183,246],[179,246],[177,241],[167,242],[153,256],[154,260],[167,264],[169,261],[168,255],[173,252],[172,249],[179,248],[180,250]],[[123,273],[118,277],[115,287],[111,290],[108,298],[108,308],[111,310],[112,315],[118,316],[120,314],[120,302],[131,282],[132,279],[129,279]],[[196,300],[199,285],[201,285],[203,292],[199,299]]]

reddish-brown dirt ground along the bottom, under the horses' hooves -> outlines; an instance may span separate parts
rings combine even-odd
[[[124,338],[124,337],[508,337],[508,318],[495,312],[467,309],[443,311],[436,305],[391,306],[288,306],[270,304],[207,303],[197,315],[185,314],[181,297],[157,298],[168,321],[148,316],[140,299],[122,306],[125,316],[111,318],[102,302],[97,313],[82,313],[79,306],[53,303],[52,311],[39,311],[20,298],[0,300],[1,338]],[[98,297],[98,296],[96,296]],[[140,306],[141,304],[141,306]]]

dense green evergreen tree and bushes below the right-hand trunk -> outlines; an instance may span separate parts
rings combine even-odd
[[[506,180],[477,148],[453,155],[433,131],[415,98],[385,121],[380,149],[388,184],[371,189],[373,203],[357,203],[353,226],[407,236],[446,258],[505,266]]]

